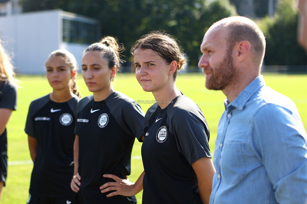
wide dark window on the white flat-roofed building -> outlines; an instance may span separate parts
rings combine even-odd
[[[97,41],[97,24],[63,19],[63,42],[92,44]]]

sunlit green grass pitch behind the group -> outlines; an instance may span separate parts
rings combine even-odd
[[[44,76],[19,76],[21,88],[18,89],[18,110],[14,111],[7,125],[8,129],[8,179],[3,189],[1,203],[26,203],[33,164],[28,150],[27,135],[24,132],[26,115],[30,102],[52,91]],[[300,116],[307,127],[307,75],[265,75],[267,86],[288,96],[298,107]],[[131,74],[118,74],[114,88],[135,100],[154,100],[151,93],[146,93]],[[78,79],[83,96],[90,95],[83,79]],[[209,91],[204,87],[204,74],[181,74],[177,78],[177,87],[183,94],[193,99],[201,108],[210,129],[210,149],[213,152],[220,116],[224,110],[224,94],[221,91]],[[152,104],[140,104],[144,112]],[[131,175],[135,182],[143,171],[141,143],[135,142],[132,151]],[[22,162],[18,162],[22,161]],[[21,163],[21,164],[20,164]],[[23,164],[22,164],[23,163]],[[138,203],[142,203],[142,192],[137,194]]]

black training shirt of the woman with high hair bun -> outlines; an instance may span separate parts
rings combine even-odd
[[[103,174],[114,174],[122,179],[130,175],[131,151],[137,137],[143,134],[144,113],[139,105],[120,92],[112,93],[103,101],[88,96],[78,103],[76,135],[79,136],[80,203],[126,204],[135,196],[106,197],[99,187],[113,179]]]

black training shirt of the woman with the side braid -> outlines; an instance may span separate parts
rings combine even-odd
[[[72,197],[75,112],[79,98],[64,103],[49,95],[31,102],[25,133],[37,139],[29,193],[38,197]]]

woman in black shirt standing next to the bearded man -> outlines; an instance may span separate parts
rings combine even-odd
[[[198,105],[176,88],[186,59],[175,39],[154,31],[131,48],[136,78],[156,103],[144,118],[143,204],[209,203],[215,169]]]

